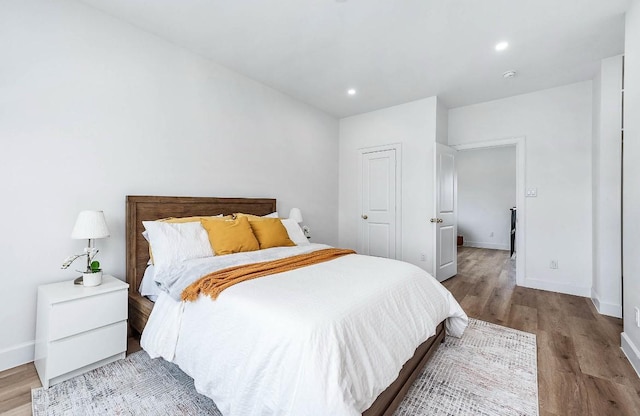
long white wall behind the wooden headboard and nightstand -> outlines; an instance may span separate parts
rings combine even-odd
[[[0,2],[0,370],[33,358],[36,288],[82,209],[125,276],[125,196],[275,197],[338,241],[338,121],[86,5]]]

